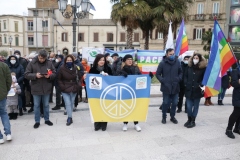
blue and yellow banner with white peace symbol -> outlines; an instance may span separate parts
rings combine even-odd
[[[146,121],[150,97],[149,75],[86,77],[88,103],[94,122]]]

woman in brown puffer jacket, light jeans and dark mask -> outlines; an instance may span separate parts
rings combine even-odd
[[[74,57],[72,55],[66,56],[57,77],[68,115],[66,125],[69,126],[73,123],[72,111],[74,100],[81,87],[82,78],[80,67],[74,64]]]

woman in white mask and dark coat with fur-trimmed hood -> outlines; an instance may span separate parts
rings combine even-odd
[[[195,127],[195,119],[198,114],[199,103],[203,97],[201,87],[207,61],[198,53],[195,53],[188,61],[188,68],[184,74],[185,97],[187,99],[188,120],[184,124],[187,128]]]

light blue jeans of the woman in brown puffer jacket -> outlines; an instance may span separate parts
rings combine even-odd
[[[77,93],[63,93],[62,96],[65,102],[65,107],[69,118],[72,118],[72,111],[74,107],[74,101]]]

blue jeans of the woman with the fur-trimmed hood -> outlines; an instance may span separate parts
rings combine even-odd
[[[189,117],[197,117],[199,103],[201,98],[186,98],[187,100],[187,112]]]

